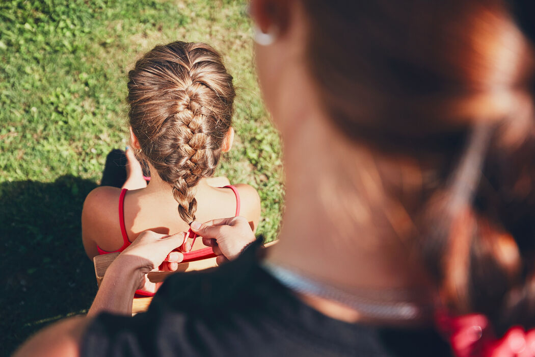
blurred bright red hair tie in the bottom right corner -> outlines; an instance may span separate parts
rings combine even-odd
[[[435,323],[446,336],[456,357],[534,357],[535,329],[513,326],[503,337],[496,335],[482,314],[449,316],[439,312]]]

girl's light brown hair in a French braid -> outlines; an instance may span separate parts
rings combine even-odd
[[[232,76],[209,45],[173,42],[139,59],[128,80],[129,124],[140,158],[173,187],[180,217],[189,223],[195,186],[212,176],[232,130]]]

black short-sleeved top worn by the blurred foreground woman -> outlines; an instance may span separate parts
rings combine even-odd
[[[434,330],[378,328],[327,317],[258,263],[251,245],[217,269],[166,279],[148,312],[98,315],[83,356],[449,356]]]

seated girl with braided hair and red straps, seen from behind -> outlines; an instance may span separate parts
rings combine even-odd
[[[127,149],[122,188],[98,187],[86,198],[82,240],[87,255],[121,252],[149,229],[187,231],[194,220],[244,216],[255,230],[256,190],[244,184],[213,187],[207,180],[234,138],[232,76],[217,51],[204,43],[158,45],[136,62],[128,79],[135,157]],[[149,185],[136,158],[150,169]],[[200,248],[206,248],[200,239],[184,247]]]

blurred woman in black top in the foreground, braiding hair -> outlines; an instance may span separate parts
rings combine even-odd
[[[284,141],[279,244],[21,354],[535,355],[533,48],[508,4],[254,0],[251,14]],[[194,231],[232,258],[240,219],[216,224]],[[90,312],[128,313],[183,239],[136,240]]]

